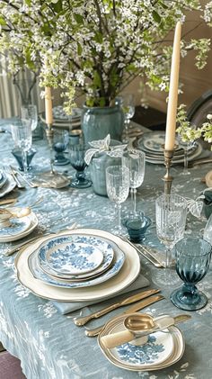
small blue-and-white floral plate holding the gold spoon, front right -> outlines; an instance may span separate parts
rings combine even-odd
[[[125,318],[126,315],[122,314],[110,320],[98,337],[103,354],[113,365],[131,371],[153,371],[173,365],[181,359],[185,348],[184,339],[181,330],[174,326],[164,332],[150,334],[144,345],[125,343],[118,347],[105,347],[102,337],[125,330]]]

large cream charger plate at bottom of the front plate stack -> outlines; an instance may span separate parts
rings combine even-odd
[[[140,259],[137,250],[130,246],[128,242],[119,239],[117,236],[113,236],[107,231],[94,229],[69,230],[68,232],[61,233],[60,236],[76,233],[88,236],[100,236],[114,241],[125,254],[125,262],[119,273],[107,282],[93,285],[89,288],[69,289],[45,284],[41,280],[35,279],[31,274],[28,258],[40,246],[41,242],[48,239],[46,237],[25,248],[24,252],[20,252],[15,258],[15,267],[20,283],[29,288],[32,293],[45,299],[56,300],[58,302],[84,302],[88,300],[102,300],[109,295],[119,293],[119,291],[128,287],[129,284],[136,280],[140,272]]]

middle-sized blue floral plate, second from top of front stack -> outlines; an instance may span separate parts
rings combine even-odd
[[[60,273],[56,271],[53,267],[49,266],[48,263],[48,255],[49,255],[49,249],[52,248],[53,245],[58,246],[58,244],[70,244],[71,242],[75,243],[87,243],[89,245],[92,245],[94,247],[97,247],[102,252],[102,264],[98,266],[96,269],[93,269],[92,272],[86,273],[86,274],[80,274],[80,275],[66,275],[63,273]],[[98,239],[96,237],[91,236],[79,236],[79,235],[73,235],[73,236],[65,236],[65,237],[56,237],[54,239],[47,240],[43,242],[40,245],[40,248],[38,248],[38,259],[41,269],[48,275],[53,276],[54,278],[65,279],[65,280],[84,280],[87,278],[91,278],[93,276],[101,275],[102,272],[106,271],[109,266],[111,265],[111,262],[114,257],[114,251],[111,247],[110,243]]]

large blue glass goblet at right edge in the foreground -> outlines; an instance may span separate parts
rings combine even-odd
[[[176,271],[184,284],[172,292],[171,301],[181,310],[199,310],[208,299],[195,284],[208,273],[212,247],[205,239],[185,237],[176,243],[174,249]]]

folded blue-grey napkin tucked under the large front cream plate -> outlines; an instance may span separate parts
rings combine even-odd
[[[104,300],[115,298],[115,301],[118,301],[119,299],[117,299],[117,297],[119,294],[129,293],[131,291],[136,291],[140,288],[146,287],[147,285],[149,285],[149,281],[146,279],[146,277],[144,275],[139,274],[137,276],[137,279],[135,280],[135,282],[128,285],[127,288],[124,288],[119,293],[116,293],[116,294],[113,293],[111,296],[106,297]],[[113,301],[114,301],[114,299],[113,299]],[[81,308],[87,307],[89,305],[93,305],[97,302],[101,302],[101,300],[95,300],[95,301],[91,301],[91,302],[52,302],[52,303],[54,304],[54,306],[57,308],[57,310],[60,313],[66,314],[66,313],[69,313],[71,311],[76,311],[76,310],[79,310]]]

